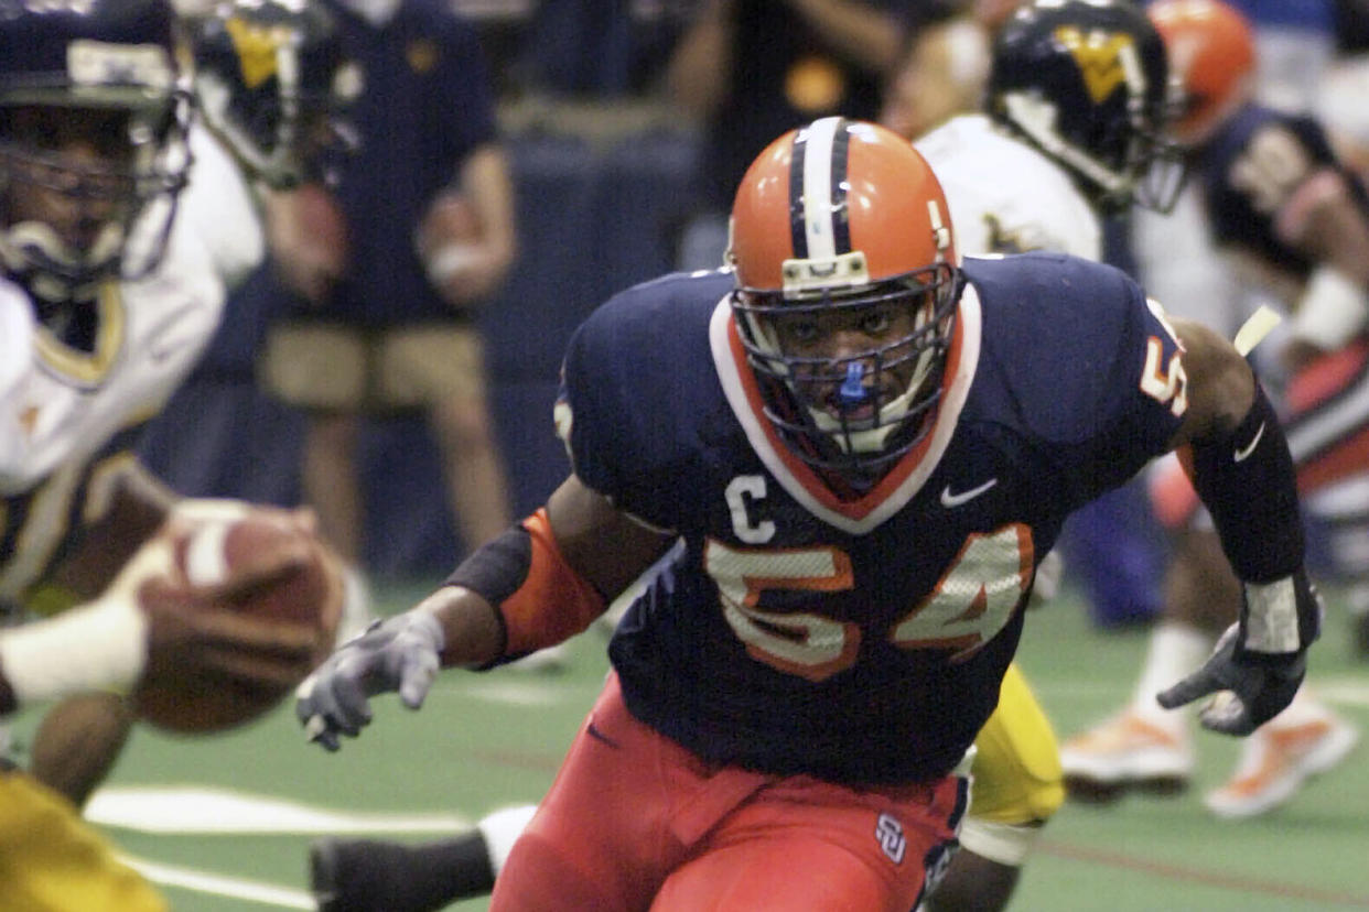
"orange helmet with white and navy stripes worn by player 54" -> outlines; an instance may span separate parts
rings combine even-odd
[[[823,118],[772,142],[737,190],[727,261],[767,418],[799,458],[868,480],[927,433],[961,280],[946,197],[908,139]],[[780,321],[835,313],[908,331],[786,350]]]

